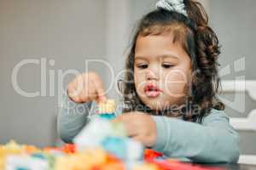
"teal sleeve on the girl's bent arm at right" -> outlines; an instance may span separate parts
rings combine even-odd
[[[157,127],[153,149],[165,156],[195,162],[236,162],[239,136],[224,111],[211,111],[201,124],[166,116],[152,116]]]

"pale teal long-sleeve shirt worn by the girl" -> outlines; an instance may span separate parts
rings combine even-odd
[[[90,122],[94,103],[74,103],[64,96],[58,116],[58,133],[71,143],[80,130]],[[236,162],[239,158],[239,136],[230,126],[224,111],[212,109],[201,123],[178,118],[152,116],[157,127],[153,150],[165,156],[195,162]]]

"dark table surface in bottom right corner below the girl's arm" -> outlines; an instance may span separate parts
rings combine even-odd
[[[220,167],[226,170],[256,170],[256,165],[244,165],[244,164],[215,164],[215,165],[200,165],[201,167]]]

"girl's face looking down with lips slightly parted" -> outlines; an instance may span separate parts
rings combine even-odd
[[[160,111],[182,105],[191,79],[191,60],[172,35],[137,38],[134,79],[139,98]]]

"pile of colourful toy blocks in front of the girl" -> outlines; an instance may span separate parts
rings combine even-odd
[[[4,170],[206,170],[179,161],[166,160],[154,150],[127,137],[115,118],[115,102],[99,105],[98,115],[73,139],[59,148],[38,149],[15,141],[0,145],[0,169]]]

